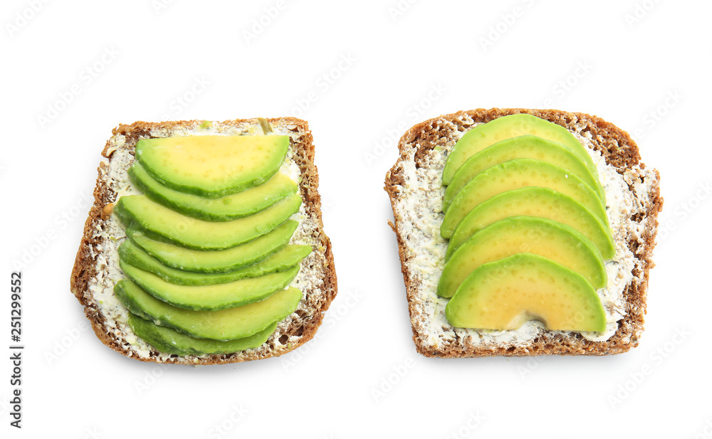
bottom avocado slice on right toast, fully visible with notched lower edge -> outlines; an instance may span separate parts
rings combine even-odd
[[[537,319],[553,331],[606,329],[601,300],[584,277],[529,253],[480,265],[449,300],[445,314],[460,328],[518,329]]]

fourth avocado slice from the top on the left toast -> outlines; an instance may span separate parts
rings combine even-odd
[[[299,223],[285,221],[273,231],[225,250],[191,250],[148,238],[142,231],[129,228],[128,238],[167,267],[195,273],[227,273],[265,260],[283,248]]]

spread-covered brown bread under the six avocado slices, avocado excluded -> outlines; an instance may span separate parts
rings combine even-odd
[[[549,331],[528,322],[516,331],[452,327],[447,299],[436,295],[444,266],[442,170],[462,135],[497,117],[529,113],[567,128],[590,149],[606,191],[616,256],[606,263],[609,284],[599,290],[607,314],[603,334]],[[636,347],[643,331],[651,255],[662,207],[659,174],[640,162],[622,129],[591,115],[521,108],[471,110],[426,120],[399,142],[400,157],[386,175],[393,208],[413,339],[424,356],[533,356],[619,354]]]

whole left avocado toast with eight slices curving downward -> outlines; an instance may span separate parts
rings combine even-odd
[[[115,351],[169,364],[279,356],[337,292],[303,120],[119,125],[70,288]]]

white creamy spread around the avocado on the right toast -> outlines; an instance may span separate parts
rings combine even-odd
[[[445,191],[441,176],[447,154],[466,131],[458,131],[458,127],[451,122],[442,123],[450,125],[454,134],[447,144],[435,147],[426,153],[423,162],[427,166],[416,166],[417,144],[405,145],[404,152],[407,157],[401,162],[404,186],[394,203],[394,210],[402,218],[402,221],[399,221],[399,233],[407,251],[406,265],[416,294],[420,296],[418,301],[420,305],[412,314],[413,323],[419,327],[422,343],[430,347],[438,347],[441,343],[452,343],[457,339],[464,344],[475,345],[530,344],[538,334],[546,331],[542,323],[530,321],[517,330],[493,331],[454,328],[445,317],[445,305],[448,299],[436,294],[447,247],[447,241],[440,236]],[[470,125],[468,129],[476,125],[478,124]],[[640,169],[639,166],[634,166],[623,175],[619,174],[613,166],[605,162],[599,152],[592,148],[590,132],[572,133],[587,147],[597,166],[606,194],[607,213],[616,245],[616,256],[606,263],[608,285],[598,290],[606,311],[607,330],[602,333],[582,333],[586,339],[600,342],[612,337],[617,330],[619,320],[625,317],[623,294],[627,285],[633,280],[632,273],[636,264],[642,263],[634,257],[627,243],[630,239],[637,239],[644,243],[641,232],[646,228],[646,218],[643,218],[641,223],[630,221],[630,218],[636,213],[646,211],[649,186],[653,184],[656,177],[650,169]],[[630,187],[633,190],[629,189]],[[644,245],[639,248],[644,248]],[[642,273],[642,267],[638,268]],[[567,333],[562,332],[562,334]]]

